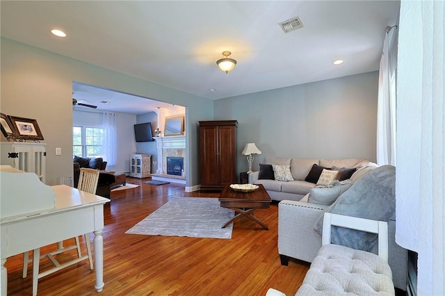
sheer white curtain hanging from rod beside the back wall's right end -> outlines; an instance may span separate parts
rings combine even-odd
[[[385,35],[378,78],[377,163],[396,165],[396,69],[398,30]]]

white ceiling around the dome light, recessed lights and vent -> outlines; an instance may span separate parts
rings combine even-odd
[[[0,5],[5,38],[221,99],[377,70],[384,30],[396,24],[400,1],[2,0]],[[284,33],[278,24],[296,16],[304,28]],[[55,37],[52,28],[67,37]],[[223,51],[232,51],[238,61],[229,74],[216,65]],[[345,63],[333,65],[337,58]],[[86,89],[74,89],[74,97]],[[88,99],[97,100],[104,99]]]

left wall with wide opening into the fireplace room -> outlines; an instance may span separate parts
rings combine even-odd
[[[49,185],[59,176],[72,176],[73,81],[187,106],[187,186],[200,183],[196,126],[200,120],[213,119],[213,101],[6,38],[0,42],[1,112],[38,120],[42,142],[47,143]],[[6,140],[3,135],[0,139]],[[56,147],[70,152],[56,156]]]

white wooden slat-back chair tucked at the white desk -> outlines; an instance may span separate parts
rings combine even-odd
[[[97,183],[99,181],[99,170],[95,169],[88,169],[88,168],[81,168],[80,176],[79,176],[79,184],[77,186],[77,189],[81,191],[86,191],[88,193],[95,194],[97,189]],[[70,265],[73,265],[75,263],[78,263],[80,261],[86,260],[88,258],[88,261],[90,262],[90,270],[93,270],[93,264],[92,264],[92,255],[91,255],[91,242],[90,242],[90,233],[85,234],[85,242],[86,242],[86,249],[87,249],[87,256],[82,256],[81,254],[81,247],[80,247],[80,241],[79,237],[76,236],[74,238],[76,241],[75,245],[71,245],[68,247],[63,247],[62,242],[58,242],[58,247],[56,251],[50,252],[47,254],[43,254],[39,258],[29,258],[29,252],[24,252],[23,254],[23,278],[26,277],[28,273],[28,263],[33,262],[33,295],[37,295],[37,284],[38,279],[47,276],[48,274],[51,274],[53,272],[56,272],[58,270],[61,270],[63,268],[66,268]],[[67,263],[60,264],[56,258],[54,258],[54,255],[70,251],[72,249],[77,249],[77,256],[79,258],[75,258],[72,261],[69,261]],[[48,257],[49,260],[55,265],[54,268],[51,268],[50,270],[44,271],[39,273],[39,262],[40,258]]]

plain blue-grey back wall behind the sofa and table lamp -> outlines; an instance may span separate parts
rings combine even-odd
[[[375,161],[378,72],[245,94],[214,102],[215,120],[238,120],[241,154],[254,142],[266,157],[366,158]]]

